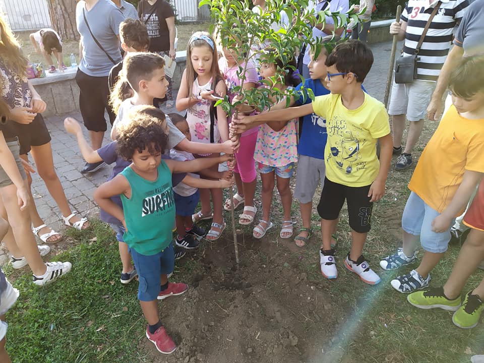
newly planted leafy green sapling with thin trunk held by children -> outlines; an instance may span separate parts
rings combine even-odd
[[[221,46],[232,53],[238,65],[237,77],[240,79],[240,84],[230,90],[232,94],[237,95],[235,101],[230,102],[226,95],[215,105],[220,105],[227,114],[236,115],[239,111],[267,110],[275,102],[284,98],[289,103],[290,96],[298,97],[291,88],[283,90],[273,85],[284,84],[284,72],[291,67],[294,68],[290,66],[290,62],[305,42],[311,46],[315,57],[318,56],[322,44],[319,39],[311,39],[313,26],[316,23],[324,23],[326,17],[333,18],[335,28],[345,27],[351,19],[358,22],[358,14],[353,7],[348,13],[331,13],[327,10],[315,15],[308,10],[309,1],[311,0],[268,0],[264,9],[259,8],[258,11],[253,11],[251,0],[202,0],[199,3],[200,7],[209,6],[212,15],[210,31],[219,39]],[[365,9],[361,9],[360,14],[364,11]],[[289,20],[289,24],[282,21],[283,17]],[[264,51],[264,49],[270,49],[270,51]],[[283,65],[276,72],[276,76],[261,81],[264,84],[262,87],[244,88],[247,68],[252,63],[274,64],[276,59],[279,59]],[[311,89],[307,89],[307,94],[314,99]],[[229,191],[235,260],[238,264],[233,192],[231,189]]]

